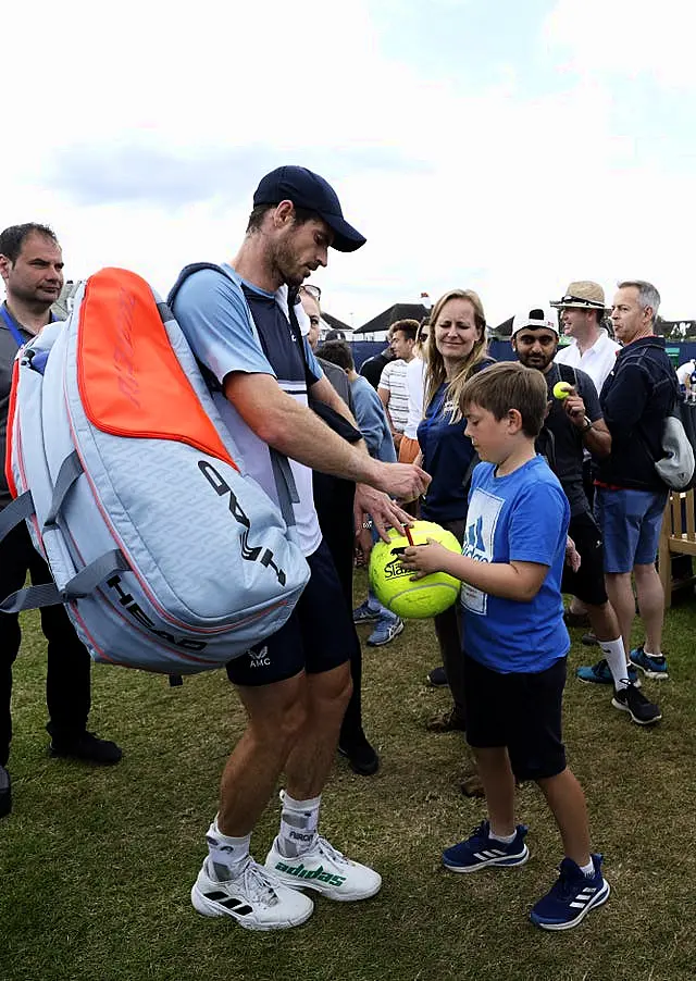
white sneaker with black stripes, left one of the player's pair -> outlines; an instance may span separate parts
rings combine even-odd
[[[217,882],[208,859],[191,890],[191,903],[203,916],[228,916],[245,930],[285,930],[308,920],[314,904],[251,857],[235,879]]]

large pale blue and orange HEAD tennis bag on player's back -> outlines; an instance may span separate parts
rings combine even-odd
[[[26,520],[55,585],[0,610],[64,603],[96,660],[169,674],[217,668],[289,617],[309,568],[288,462],[273,460],[278,509],[139,276],[91,276],[22,349],[8,436],[0,537]]]

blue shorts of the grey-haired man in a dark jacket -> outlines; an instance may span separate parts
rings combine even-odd
[[[667,505],[664,490],[608,490],[597,487],[595,513],[605,542],[605,572],[631,572],[657,558]]]

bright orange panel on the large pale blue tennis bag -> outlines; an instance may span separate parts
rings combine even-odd
[[[172,350],[145,280],[124,269],[90,276],[77,344],[79,394],[97,429],[175,439],[236,465]]]

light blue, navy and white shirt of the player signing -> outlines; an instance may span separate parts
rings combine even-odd
[[[286,291],[266,293],[250,283],[237,282],[238,277],[229,266],[221,269],[224,275],[214,270],[201,270],[190,276],[174,301],[174,314],[194,353],[220,385],[233,371],[269,374],[287,395],[307,406],[308,384],[321,378],[323,372],[306,339],[294,333],[286,314]],[[248,309],[253,314],[261,344],[251,331]],[[239,448],[247,471],[277,501],[269,447],[222,392],[213,392],[213,400]],[[312,471],[295,460],[290,460],[290,467],[299,496],[299,502],[294,505],[297,532],[302,551],[309,556],[321,542]]]

